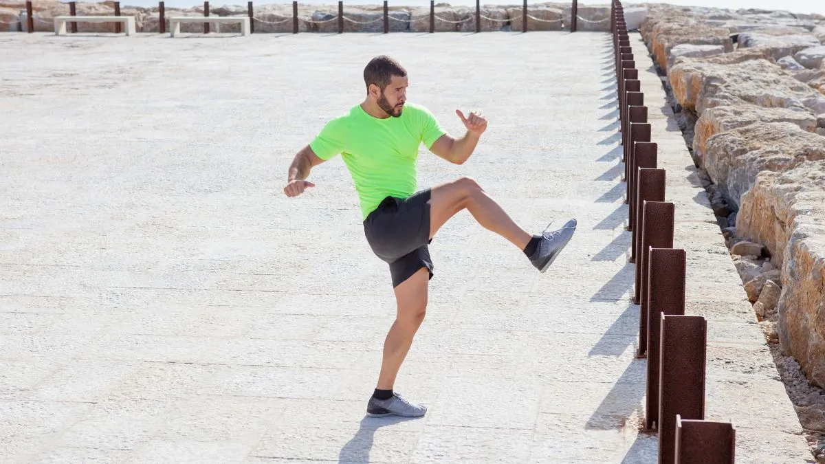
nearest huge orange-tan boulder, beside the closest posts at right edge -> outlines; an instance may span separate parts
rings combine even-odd
[[[742,196],[737,231],[781,265],[780,347],[825,387],[825,161],[761,173]]]

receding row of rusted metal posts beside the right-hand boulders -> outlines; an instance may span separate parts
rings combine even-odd
[[[610,7],[619,101],[623,181],[639,305],[639,350],[647,357],[644,425],[658,433],[658,462],[731,464],[733,424],[705,420],[707,321],[685,315],[686,253],[673,247],[675,206],[665,200],[665,169],[651,140],[639,69],[619,0]],[[641,54],[647,57],[647,54]]]

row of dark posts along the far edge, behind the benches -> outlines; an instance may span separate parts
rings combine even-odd
[[[120,2],[115,3],[115,16],[120,16]],[[430,0],[430,32],[436,31],[436,5],[435,0]],[[69,16],[77,16],[76,13],[76,2],[68,2],[68,14]],[[31,7],[31,0],[26,1],[26,26],[28,26],[29,32],[35,31],[35,23],[34,17],[32,16],[32,7]],[[578,2],[577,0],[573,0],[573,7],[570,13],[570,31],[576,31],[576,19],[578,13]],[[247,14],[249,15],[249,31],[255,31],[255,19],[252,13],[252,2],[247,2]],[[209,17],[209,2],[204,2],[204,17]],[[338,1],[338,34],[342,34],[344,32],[344,2],[343,0]],[[161,34],[166,32],[166,8],[163,5],[163,2],[159,2],[158,4],[158,21],[159,21],[159,32]],[[71,27],[71,31],[74,33],[78,32],[78,23],[71,22],[69,23]],[[292,33],[298,34],[298,2],[292,2]],[[481,0],[475,0],[475,31],[481,31]],[[527,31],[527,0],[523,0],[523,6],[521,8],[521,31]],[[120,22],[115,23],[115,32],[120,33]],[[204,24],[204,34],[209,33],[209,23]],[[384,34],[389,33],[389,7],[387,6],[387,0],[384,0]]]

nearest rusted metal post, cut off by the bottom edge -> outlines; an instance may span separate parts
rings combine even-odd
[[[729,422],[681,419],[676,414],[675,464],[733,464],[736,428]]]

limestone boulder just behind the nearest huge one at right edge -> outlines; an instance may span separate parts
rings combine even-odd
[[[703,167],[719,192],[740,206],[742,194],[761,171],[781,173],[820,159],[825,159],[822,136],[790,122],[757,122],[711,136],[705,142]],[[737,234],[744,237],[738,227]]]

